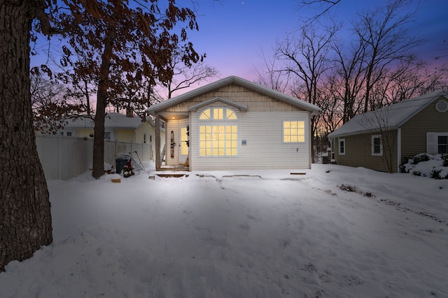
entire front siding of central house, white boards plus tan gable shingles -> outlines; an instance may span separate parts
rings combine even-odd
[[[253,84],[229,82],[204,91],[193,91],[190,96],[178,98],[172,105],[162,103],[150,110],[153,116],[167,122],[167,163],[176,165],[179,147],[174,148],[174,158],[169,158],[169,138],[174,131],[177,142],[179,122],[188,118],[190,125],[190,170],[260,170],[260,169],[309,169],[311,167],[310,110],[314,105],[297,103],[294,98],[272,94]],[[218,100],[214,100],[218,98]],[[222,98],[223,100],[219,100]],[[285,100],[285,101],[283,101]],[[201,103],[207,103],[201,105]],[[197,109],[191,110],[196,106]],[[230,107],[237,113],[237,120],[199,121],[200,113],[208,107]],[[304,122],[304,142],[283,143],[283,121]],[[200,125],[235,125],[238,127],[237,156],[199,156]],[[246,144],[242,144],[245,140]]]

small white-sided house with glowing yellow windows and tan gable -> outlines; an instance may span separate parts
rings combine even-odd
[[[156,170],[309,169],[310,118],[319,111],[241,77],[225,77],[148,107],[155,117]],[[165,140],[160,121],[166,122]]]

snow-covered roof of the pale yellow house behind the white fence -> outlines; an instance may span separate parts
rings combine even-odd
[[[92,115],[94,117],[94,115]],[[76,119],[67,120],[69,123],[65,125],[66,128],[93,128],[94,122],[90,117],[78,117]],[[150,121],[152,125],[153,119],[151,117],[146,117],[146,121]],[[120,113],[108,113],[106,114],[106,119],[104,120],[104,128],[120,128],[120,129],[135,129],[139,127],[142,123],[139,116],[126,117],[125,114]]]

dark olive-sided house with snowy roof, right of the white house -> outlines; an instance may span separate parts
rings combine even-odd
[[[328,137],[339,165],[400,172],[416,154],[448,153],[448,93],[438,90],[356,115]]]

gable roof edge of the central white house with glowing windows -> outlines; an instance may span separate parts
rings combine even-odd
[[[252,91],[258,92],[260,94],[265,94],[266,96],[269,96],[271,98],[275,98],[276,100],[282,101],[283,103],[288,103],[290,105],[293,105],[295,107],[300,107],[303,110],[311,112],[311,114],[317,114],[321,111],[319,107],[316,105],[313,105],[311,103],[307,103],[304,100],[299,100],[297,98],[294,98],[292,96],[288,96],[286,94],[283,94],[279,91],[275,91],[273,89],[264,87],[260,84],[256,84],[254,82],[250,82],[248,80],[244,80],[241,77],[236,76],[230,76],[225,77],[221,80],[218,80],[216,82],[212,82],[210,84],[204,85],[202,87],[199,87],[197,89],[194,89],[192,91],[188,91],[185,94],[181,94],[179,96],[176,96],[174,98],[170,98],[168,100],[162,101],[161,103],[157,103],[155,105],[152,105],[151,107],[148,107],[146,109],[146,112],[149,114],[155,116],[158,112],[162,112],[163,110],[166,110],[168,107],[172,107],[174,105],[178,105],[179,103],[183,103],[184,101],[190,100],[192,98],[195,98],[197,96],[201,96],[202,94],[207,94],[211,91],[214,91],[216,89],[228,86],[230,84],[237,84],[238,86],[245,87],[247,89],[250,89]],[[223,101],[225,99],[223,98],[213,98],[212,100],[220,100]],[[227,100],[227,102],[230,104],[230,101]],[[235,103],[232,103],[231,105],[235,105]]]

